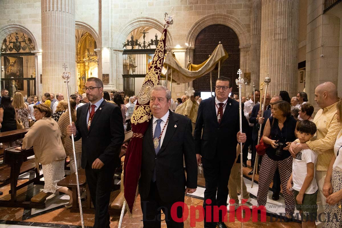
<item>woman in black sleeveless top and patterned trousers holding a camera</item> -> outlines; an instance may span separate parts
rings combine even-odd
[[[294,212],[294,198],[286,192],[286,184],[292,173],[292,157],[289,148],[290,144],[297,139],[295,131],[297,121],[291,116],[290,103],[282,100],[272,105],[271,113],[262,137],[264,144],[270,146],[266,148],[266,153],[262,157],[257,201],[258,206],[266,205],[268,187],[278,167],[285,198],[286,221],[290,221]]]

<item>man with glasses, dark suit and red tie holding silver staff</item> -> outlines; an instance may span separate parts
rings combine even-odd
[[[202,100],[198,108],[194,131],[196,157],[198,165],[203,163],[206,180],[203,207],[206,211],[207,205],[211,206],[212,215],[210,219],[206,216],[207,212],[205,213],[206,228],[216,227],[216,222],[220,228],[226,228],[222,216],[226,210],[219,214],[219,221],[216,221],[213,206],[223,206],[226,209],[228,180],[236,158],[236,146],[239,142],[246,142],[246,134],[239,132],[239,103],[229,98],[231,91],[231,81],[220,77],[216,80],[216,96]],[[243,113],[242,124],[244,129],[248,128]]]

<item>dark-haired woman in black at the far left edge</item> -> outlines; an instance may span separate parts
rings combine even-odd
[[[2,127],[0,129],[1,132],[14,131],[17,130],[17,125],[15,121],[15,109],[11,103],[11,97],[3,96],[1,98],[1,106],[0,106],[0,123]],[[7,149],[9,147],[15,146],[14,141],[8,143],[2,143],[3,148]]]

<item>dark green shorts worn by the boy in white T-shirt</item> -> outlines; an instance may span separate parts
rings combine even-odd
[[[303,196],[303,204],[298,204],[297,195],[299,191],[294,190],[294,200],[296,202],[296,209],[302,211],[302,221],[314,221],[317,217],[317,193],[318,190],[313,194],[305,194]]]

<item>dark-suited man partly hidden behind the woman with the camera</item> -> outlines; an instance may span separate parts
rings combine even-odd
[[[265,109],[268,110],[271,109],[271,105],[269,105],[269,102],[271,101],[271,95],[269,93],[266,94],[266,101],[265,101]],[[261,104],[254,105],[251,113],[251,117],[249,118],[249,122],[254,124],[253,130],[252,130],[252,140],[253,140],[253,148],[252,148],[252,159],[251,159],[251,167],[254,167],[254,161],[255,161],[255,154],[257,151],[255,150],[255,146],[258,144],[258,134],[259,134],[259,126],[258,123],[259,117],[261,116],[261,110],[260,105],[264,104],[264,96],[262,97]],[[264,112],[265,113],[265,112]],[[260,134],[260,136],[262,136]],[[260,157],[259,157],[260,158]],[[261,164],[261,159],[259,160],[259,165]],[[253,175],[253,169],[248,173],[248,175]]]

